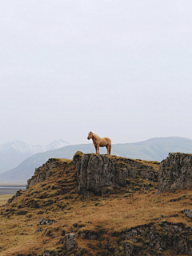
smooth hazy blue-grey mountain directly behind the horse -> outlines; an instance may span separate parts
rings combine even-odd
[[[77,151],[93,153],[94,145],[90,143],[64,146],[34,154],[16,168],[0,174],[0,184],[26,184],[26,180],[34,174],[35,168],[42,166],[49,158],[72,159]],[[112,154],[133,159],[162,161],[170,152],[192,153],[192,140],[180,137],[150,138],[144,142],[112,145]],[[100,153],[106,154],[106,148],[101,148]]]

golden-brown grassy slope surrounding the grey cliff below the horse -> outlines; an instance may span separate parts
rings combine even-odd
[[[120,159],[121,160],[121,159]],[[123,158],[122,158],[123,161]],[[139,160],[139,162],[142,162]],[[168,222],[183,222],[191,226],[190,219],[181,213],[191,205],[190,190],[178,190],[175,193],[156,194],[155,184],[150,190],[141,191],[138,184],[141,178],[132,181],[131,186],[122,187],[114,194],[97,197],[91,195],[86,201],[78,195],[75,168],[70,160],[58,159],[58,167],[46,181],[31,186],[9,206],[0,208],[0,254],[1,256],[32,254],[42,255],[46,249],[62,251],[63,244],[58,243],[64,234],[76,234],[76,251],[83,248],[83,255],[99,255],[106,246],[120,248],[116,232],[133,226],[153,222],[158,227],[161,215]],[[143,163],[153,166],[154,162]],[[41,226],[42,232],[34,234],[38,218],[54,219],[56,223]],[[101,234],[98,240],[86,240],[78,236],[79,232],[94,230]],[[71,255],[71,252],[66,254]],[[167,252],[166,255],[173,255]]]

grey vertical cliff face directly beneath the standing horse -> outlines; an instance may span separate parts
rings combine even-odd
[[[85,198],[90,191],[102,195],[126,186],[126,178],[134,179],[137,175],[154,182],[158,180],[158,172],[153,167],[129,158],[77,152],[73,161],[78,176],[78,193]]]

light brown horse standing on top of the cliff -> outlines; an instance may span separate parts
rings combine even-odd
[[[99,153],[99,146],[106,146],[107,154],[110,154],[111,151],[111,141],[110,138],[100,138],[97,134],[94,134],[92,131],[89,132],[87,139],[92,138],[96,154]]]

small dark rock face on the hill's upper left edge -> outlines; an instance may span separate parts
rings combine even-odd
[[[58,166],[58,162],[51,158],[44,165],[38,167],[34,171],[34,176],[28,179],[26,189],[38,182],[43,182],[46,178],[50,177],[51,170]]]

